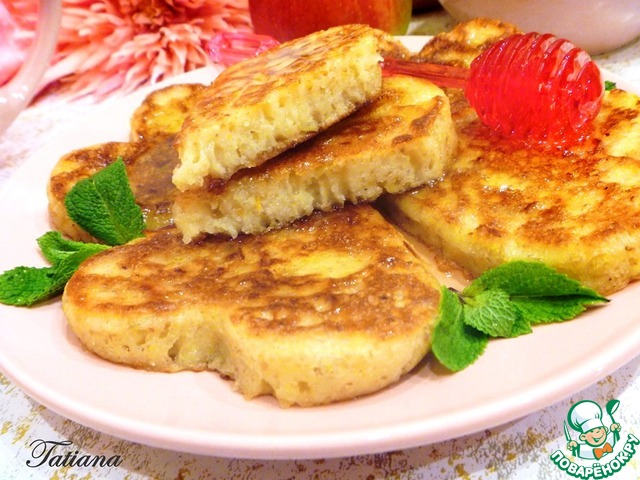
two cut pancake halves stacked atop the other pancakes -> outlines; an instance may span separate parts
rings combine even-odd
[[[439,177],[455,148],[447,97],[383,80],[381,60],[375,30],[349,25],[225,70],[176,140],[185,241],[261,233]]]

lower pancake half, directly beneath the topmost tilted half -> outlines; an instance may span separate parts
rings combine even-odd
[[[380,97],[328,130],[226,182],[176,197],[185,241],[279,228],[440,177],[456,147],[449,102],[428,80],[386,77]]]

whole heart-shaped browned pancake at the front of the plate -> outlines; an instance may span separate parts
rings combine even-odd
[[[369,205],[234,240],[156,232],[85,261],[62,300],[101,357],[215,370],[283,406],[395,382],[426,354],[438,303],[428,267]]]

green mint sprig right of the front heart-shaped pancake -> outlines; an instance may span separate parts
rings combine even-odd
[[[575,318],[608,299],[540,262],[488,270],[462,292],[442,287],[431,349],[452,371],[475,362],[490,338],[531,333],[540,323]]]

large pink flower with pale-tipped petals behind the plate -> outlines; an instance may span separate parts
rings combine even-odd
[[[35,0],[12,0],[33,24]],[[63,0],[43,96],[125,94],[212,63],[218,32],[250,32],[247,0]]]

